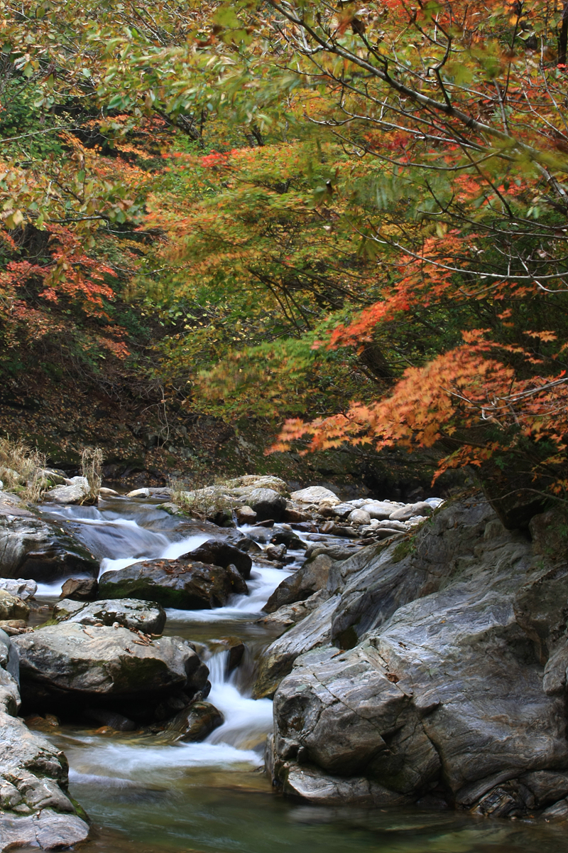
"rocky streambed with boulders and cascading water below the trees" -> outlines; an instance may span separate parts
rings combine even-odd
[[[2,496],[2,849],[559,850],[554,513],[202,491]]]

